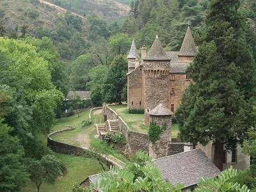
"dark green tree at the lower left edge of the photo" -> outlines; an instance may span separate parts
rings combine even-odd
[[[17,136],[11,136],[12,128],[0,118],[0,191],[20,191],[29,180],[22,163],[24,148]]]

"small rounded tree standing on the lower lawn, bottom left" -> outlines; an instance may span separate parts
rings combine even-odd
[[[35,182],[38,192],[43,182],[54,184],[55,180],[66,172],[65,165],[52,155],[44,156],[40,161],[28,159],[27,164],[29,177]]]

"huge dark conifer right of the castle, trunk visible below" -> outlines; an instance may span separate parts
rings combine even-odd
[[[193,144],[215,141],[214,164],[223,169],[223,145],[236,147],[255,124],[255,61],[246,45],[239,0],[212,0],[198,53],[188,67],[193,79],[175,111],[180,137]]]

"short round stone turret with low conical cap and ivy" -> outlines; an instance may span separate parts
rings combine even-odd
[[[149,142],[148,152],[153,159],[165,157],[168,155],[168,143],[172,142],[172,115],[173,112],[167,109],[163,104],[148,113],[150,115],[150,124],[159,127],[161,134],[156,142]],[[152,127],[150,127],[152,129]]]

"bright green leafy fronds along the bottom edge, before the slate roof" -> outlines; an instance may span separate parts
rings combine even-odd
[[[72,192],[92,191],[181,191],[183,184],[173,186],[168,180],[163,179],[157,166],[152,159],[143,152],[137,152],[131,164],[124,169],[111,167],[111,172],[102,172],[97,177],[95,184],[88,187],[81,187],[74,184]],[[218,177],[211,179],[200,178],[195,192],[212,191],[241,191],[249,192],[246,185],[241,186],[237,182],[230,182],[230,179],[237,175],[237,170],[232,166],[221,172]]]

